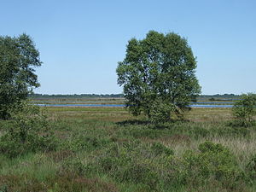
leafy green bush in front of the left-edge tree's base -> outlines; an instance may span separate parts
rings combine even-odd
[[[10,114],[11,126],[0,137],[0,151],[3,154],[14,158],[29,152],[55,150],[55,137],[40,108],[21,102],[12,108]]]

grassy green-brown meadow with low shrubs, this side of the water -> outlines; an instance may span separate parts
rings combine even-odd
[[[47,113],[57,147],[0,154],[0,191],[256,190],[256,127],[230,126],[230,109],[194,108],[158,126],[123,108]]]

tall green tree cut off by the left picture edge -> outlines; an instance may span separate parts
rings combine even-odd
[[[34,67],[41,64],[38,49],[28,35],[0,36],[0,119],[9,118],[9,108],[39,86]]]

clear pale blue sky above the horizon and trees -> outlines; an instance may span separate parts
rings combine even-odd
[[[202,94],[256,92],[255,0],[8,0],[0,35],[30,35],[44,94],[121,93],[115,69],[131,38],[177,32],[197,57]]]

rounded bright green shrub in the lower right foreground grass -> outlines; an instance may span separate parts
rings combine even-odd
[[[188,179],[193,183],[206,183],[207,179],[214,179],[226,189],[234,189],[243,180],[244,172],[236,163],[236,158],[228,148],[212,142],[201,143],[200,153],[188,151],[184,154]]]

